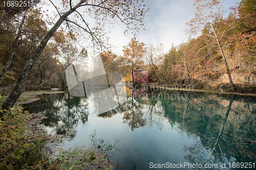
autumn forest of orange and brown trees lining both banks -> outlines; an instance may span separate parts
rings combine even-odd
[[[196,89],[214,91],[255,91],[255,1],[241,1],[227,17],[223,16],[220,4],[195,3],[195,14],[207,8],[215,8],[216,14],[209,11],[205,13],[208,16],[196,15],[188,22],[189,41],[173,44],[167,53],[163,52],[163,44],[153,46],[136,38],[123,46],[122,56],[105,48],[101,57],[106,72],[120,72],[129,82],[136,67],[150,64],[154,69],[148,77],[154,83],[193,84]],[[43,15],[38,7],[6,10],[1,15],[1,87],[16,84],[20,70],[49,31],[49,21]],[[66,68],[93,57],[79,45],[77,30],[69,29],[63,27],[53,34],[28,74],[26,89],[66,88]]]

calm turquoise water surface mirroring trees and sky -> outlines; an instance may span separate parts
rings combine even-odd
[[[101,150],[116,169],[255,166],[255,97],[143,89],[127,93],[122,106],[99,115],[93,113],[94,101],[68,92],[44,94],[24,107],[48,117],[41,127],[63,134],[64,149]]]

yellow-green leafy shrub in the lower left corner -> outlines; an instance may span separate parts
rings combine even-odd
[[[4,113],[0,117],[0,169],[54,169],[43,149],[46,136],[25,135],[28,111],[22,107],[1,109],[0,103]]]

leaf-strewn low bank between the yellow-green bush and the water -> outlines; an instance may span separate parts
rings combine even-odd
[[[26,126],[27,134],[30,136],[41,134],[47,137],[44,149],[49,153],[52,165],[55,164],[53,169],[114,169],[108,155],[98,150],[79,148],[63,150],[62,135],[48,135],[44,129],[40,128],[40,122],[46,117],[38,113],[32,113],[30,117]]]

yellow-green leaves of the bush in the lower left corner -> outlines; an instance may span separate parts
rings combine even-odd
[[[0,163],[0,168],[6,166],[8,169],[13,169],[13,166],[16,165],[22,167],[29,162],[26,157],[29,157],[28,153],[33,153],[33,151],[30,151],[31,148],[35,150],[33,138],[24,136],[24,125],[27,124],[28,112],[24,112],[22,107],[1,110],[1,112],[4,115],[0,118],[0,158],[3,160]],[[40,154],[41,143],[44,143],[44,140],[39,138],[36,138],[36,140],[39,141],[38,149],[35,150],[38,155]],[[34,161],[36,157],[32,157],[32,161]]]

